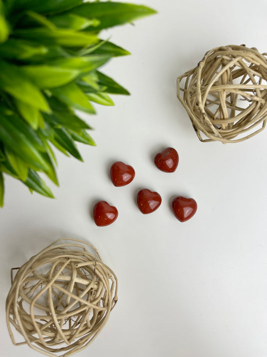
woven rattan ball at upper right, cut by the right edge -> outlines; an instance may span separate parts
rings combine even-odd
[[[266,81],[266,53],[244,45],[217,47],[177,78],[177,97],[200,141],[236,143],[266,125]]]

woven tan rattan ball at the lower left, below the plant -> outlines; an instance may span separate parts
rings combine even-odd
[[[6,304],[13,343],[53,357],[88,346],[117,302],[117,278],[95,248],[66,242],[55,242],[19,268]],[[14,327],[23,342],[16,342]]]

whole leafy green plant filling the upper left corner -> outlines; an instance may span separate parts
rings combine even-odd
[[[113,105],[129,94],[98,70],[129,52],[102,29],[154,14],[145,6],[83,0],[0,0],[0,205],[4,175],[53,197],[39,173],[58,185],[53,146],[82,160],[75,142],[95,145],[76,109]]]

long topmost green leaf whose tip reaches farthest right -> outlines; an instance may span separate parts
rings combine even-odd
[[[71,13],[100,20],[99,26],[94,29],[101,30],[156,14],[156,11],[142,5],[93,2],[81,4],[71,10]]]

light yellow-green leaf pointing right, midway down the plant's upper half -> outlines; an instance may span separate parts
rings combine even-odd
[[[49,62],[49,65],[60,67],[60,68],[76,69],[84,73],[84,72],[90,72],[93,69],[102,66],[109,59],[110,56],[107,55],[90,55],[84,57],[61,58]]]

